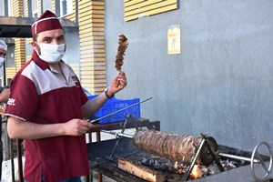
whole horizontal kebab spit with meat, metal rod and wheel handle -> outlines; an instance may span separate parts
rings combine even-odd
[[[116,138],[130,138],[137,148],[149,154],[188,164],[186,172],[179,181],[187,181],[193,167],[196,165],[208,167],[212,163],[215,163],[218,170],[224,172],[225,169],[219,161],[220,157],[251,162],[251,175],[254,181],[265,181],[272,168],[272,149],[265,142],[255,147],[252,157],[250,158],[218,152],[217,141],[213,137],[207,136],[207,134],[188,136],[163,133],[155,130],[139,130],[137,128],[135,135],[124,133],[124,129],[122,132],[107,130],[102,130],[102,132],[115,135]],[[258,147],[262,145],[268,147],[269,157],[267,157],[267,159],[264,159],[264,157],[258,154]],[[111,156],[113,157],[113,152]],[[255,164],[261,164],[264,168],[265,175],[263,177],[260,177],[260,173],[257,175],[254,167]]]

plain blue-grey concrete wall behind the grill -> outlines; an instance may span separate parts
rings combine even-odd
[[[273,147],[273,1],[183,0],[178,10],[124,21],[124,1],[106,0],[107,83],[117,35],[129,39],[121,98],[153,96],[143,117],[161,130],[253,149]],[[167,26],[181,26],[181,54],[167,55]]]

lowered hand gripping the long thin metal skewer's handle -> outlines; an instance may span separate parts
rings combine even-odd
[[[89,120],[72,119],[66,122],[65,135],[66,136],[82,136],[91,129],[93,125]]]

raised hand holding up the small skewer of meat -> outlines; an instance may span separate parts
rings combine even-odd
[[[126,74],[121,71],[108,86],[108,95],[109,96],[115,95],[118,91],[126,87],[126,85],[127,85]]]

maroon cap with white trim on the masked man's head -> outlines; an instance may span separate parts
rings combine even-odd
[[[31,26],[31,29],[32,35],[36,35],[48,30],[63,29],[63,26],[54,13],[46,10]]]

